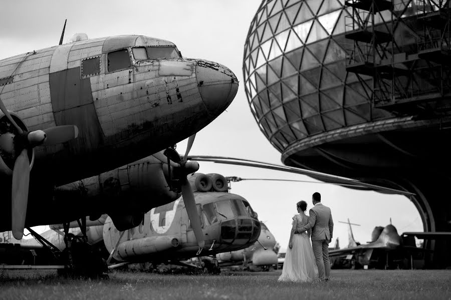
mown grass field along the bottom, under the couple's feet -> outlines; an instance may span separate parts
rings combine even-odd
[[[328,282],[280,283],[281,271],[111,273],[109,279],[3,273],[0,299],[451,299],[451,270],[333,270]]]

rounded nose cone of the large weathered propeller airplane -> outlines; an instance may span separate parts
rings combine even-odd
[[[200,96],[211,114],[222,113],[237,95],[237,76],[225,66],[197,61],[196,77]]]

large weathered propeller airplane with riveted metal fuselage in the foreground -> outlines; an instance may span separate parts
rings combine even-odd
[[[70,201],[55,205],[54,187],[189,136],[192,145],[193,135],[230,105],[237,90],[227,67],[183,58],[173,43],[145,36],[78,35],[68,44],[61,39],[59,46],[0,60],[0,188],[3,207],[11,206],[0,231],[12,229],[21,239],[24,227],[98,218],[109,206],[93,210],[88,197],[76,209]],[[177,161],[172,166],[178,173],[197,166]],[[182,193],[192,194],[183,182]],[[140,215],[145,209],[134,207]],[[112,214],[123,225],[134,218],[129,211]]]

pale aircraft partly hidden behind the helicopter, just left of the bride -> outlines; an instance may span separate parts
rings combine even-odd
[[[260,222],[262,230],[259,239],[246,249],[223,252],[217,255],[219,266],[252,264],[269,270],[271,266],[277,265],[276,239],[269,231],[265,223]]]

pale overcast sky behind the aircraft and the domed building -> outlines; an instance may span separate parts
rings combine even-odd
[[[240,81],[238,94],[215,121],[200,131],[191,154],[240,157],[281,163],[281,154],[260,132],[244,91],[243,50],[251,21],[260,0],[190,1],[4,1],[0,18],[0,58],[57,45],[64,20],[68,19],[64,43],[75,33],[89,38],[114,35],[145,35],[169,40],[184,57],[202,58],[229,67]],[[186,141],[177,144],[184,152]],[[151,153],[149,153],[151,154]],[[220,173],[242,178],[309,177],[248,167],[201,163],[203,173]],[[398,233],[423,230],[419,213],[404,196],[363,192],[330,184],[270,181],[242,181],[232,184],[232,192],[249,200],[282,248],[288,245],[291,218],[296,202],[306,200],[311,207],[313,192],[321,192],[335,221],[334,236],[347,245],[350,218],[361,224],[354,228],[357,241],[370,240],[375,226],[389,224]]]

